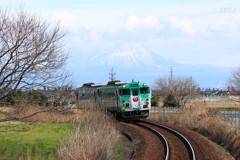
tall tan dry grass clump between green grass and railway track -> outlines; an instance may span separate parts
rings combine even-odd
[[[87,117],[58,150],[59,159],[114,159],[113,150],[119,138],[116,122],[105,113],[88,110]]]

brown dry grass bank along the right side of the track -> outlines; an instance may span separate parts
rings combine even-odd
[[[218,110],[209,109],[208,104],[192,103],[191,108],[181,109],[179,114],[159,113],[150,118],[196,131],[219,145],[227,146],[235,158],[240,157],[240,133],[234,135],[234,124]]]

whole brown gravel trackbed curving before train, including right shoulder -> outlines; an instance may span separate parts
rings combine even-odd
[[[145,119],[144,121],[135,121],[131,123],[119,122],[119,127],[120,130],[125,131],[131,137],[130,145],[133,146],[131,148],[132,152],[128,153],[129,156],[125,156],[124,160],[165,160],[167,157],[170,160],[234,159],[225,152],[224,149],[211,142],[206,137],[194,131],[169,123]],[[146,129],[146,127],[152,129]],[[164,128],[169,128],[171,131],[167,131]],[[167,149],[164,144],[165,142],[163,142],[164,140],[152,130],[156,130],[165,137],[169,146],[169,153],[166,152]],[[179,136],[174,135],[175,133],[172,133],[172,130],[181,133],[185,138],[179,138]],[[182,139],[187,139],[188,142],[183,142]],[[187,147],[186,144],[191,144],[192,147]],[[167,156],[167,154],[169,155]]]

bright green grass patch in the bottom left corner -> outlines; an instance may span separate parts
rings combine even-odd
[[[0,159],[56,159],[56,148],[73,127],[73,123],[0,124]]]

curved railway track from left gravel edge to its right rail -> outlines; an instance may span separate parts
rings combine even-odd
[[[196,159],[190,142],[171,128],[145,120],[123,125],[131,128],[130,130],[133,132],[129,135],[136,144],[135,152],[129,159]],[[143,137],[137,135],[143,135]],[[144,148],[144,150],[139,148]]]

